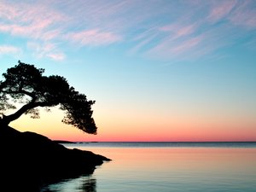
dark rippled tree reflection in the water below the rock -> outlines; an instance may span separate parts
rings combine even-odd
[[[84,175],[67,179],[59,183],[49,184],[41,192],[96,192],[96,178]]]

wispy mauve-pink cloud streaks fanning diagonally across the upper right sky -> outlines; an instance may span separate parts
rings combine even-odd
[[[253,1],[212,1],[193,3],[198,9],[179,9],[180,17],[160,26],[157,44],[144,49],[149,57],[186,60],[214,54],[244,38],[256,28]],[[220,22],[219,22],[220,21]],[[152,34],[150,34],[152,37]],[[145,37],[144,37],[145,38]],[[149,36],[148,36],[149,38]],[[141,41],[144,48],[145,41]]]

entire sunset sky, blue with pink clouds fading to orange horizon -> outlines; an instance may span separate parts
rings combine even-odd
[[[53,108],[12,122],[19,131],[68,141],[256,141],[256,1],[0,0],[0,73],[19,60],[96,101],[98,127],[90,135],[62,124]]]

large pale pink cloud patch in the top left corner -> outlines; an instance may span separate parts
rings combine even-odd
[[[40,4],[0,3],[0,32],[15,36],[49,40],[59,35],[55,24],[65,17]]]

